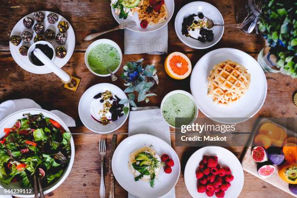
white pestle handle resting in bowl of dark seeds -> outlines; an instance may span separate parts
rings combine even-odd
[[[69,82],[71,80],[70,76],[58,67],[54,62],[52,62],[47,55],[45,55],[40,49],[35,48],[33,50],[34,55],[53,73],[55,73],[63,82]]]

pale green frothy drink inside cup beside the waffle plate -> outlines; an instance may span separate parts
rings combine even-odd
[[[169,96],[162,107],[162,114],[165,120],[175,127],[180,127],[183,124],[189,124],[195,116],[195,103],[190,97],[185,94],[177,93]],[[182,117],[179,126],[176,126],[175,118]]]

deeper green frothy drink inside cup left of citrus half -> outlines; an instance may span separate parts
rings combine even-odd
[[[101,43],[92,48],[88,54],[88,64],[91,69],[101,75],[109,74],[120,64],[120,54],[118,50],[109,44]]]

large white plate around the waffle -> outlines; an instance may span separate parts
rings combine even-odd
[[[246,94],[238,103],[229,106],[216,104],[207,95],[210,71],[215,64],[228,59],[245,66],[251,75]],[[190,84],[199,110],[215,121],[229,124],[245,121],[255,115],[263,106],[267,93],[266,78],[258,62],[247,53],[232,48],[215,49],[202,56],[192,71]]]

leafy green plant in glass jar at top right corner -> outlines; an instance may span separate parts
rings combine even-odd
[[[297,77],[297,2],[268,0],[258,22],[266,40],[258,62],[266,71]]]

